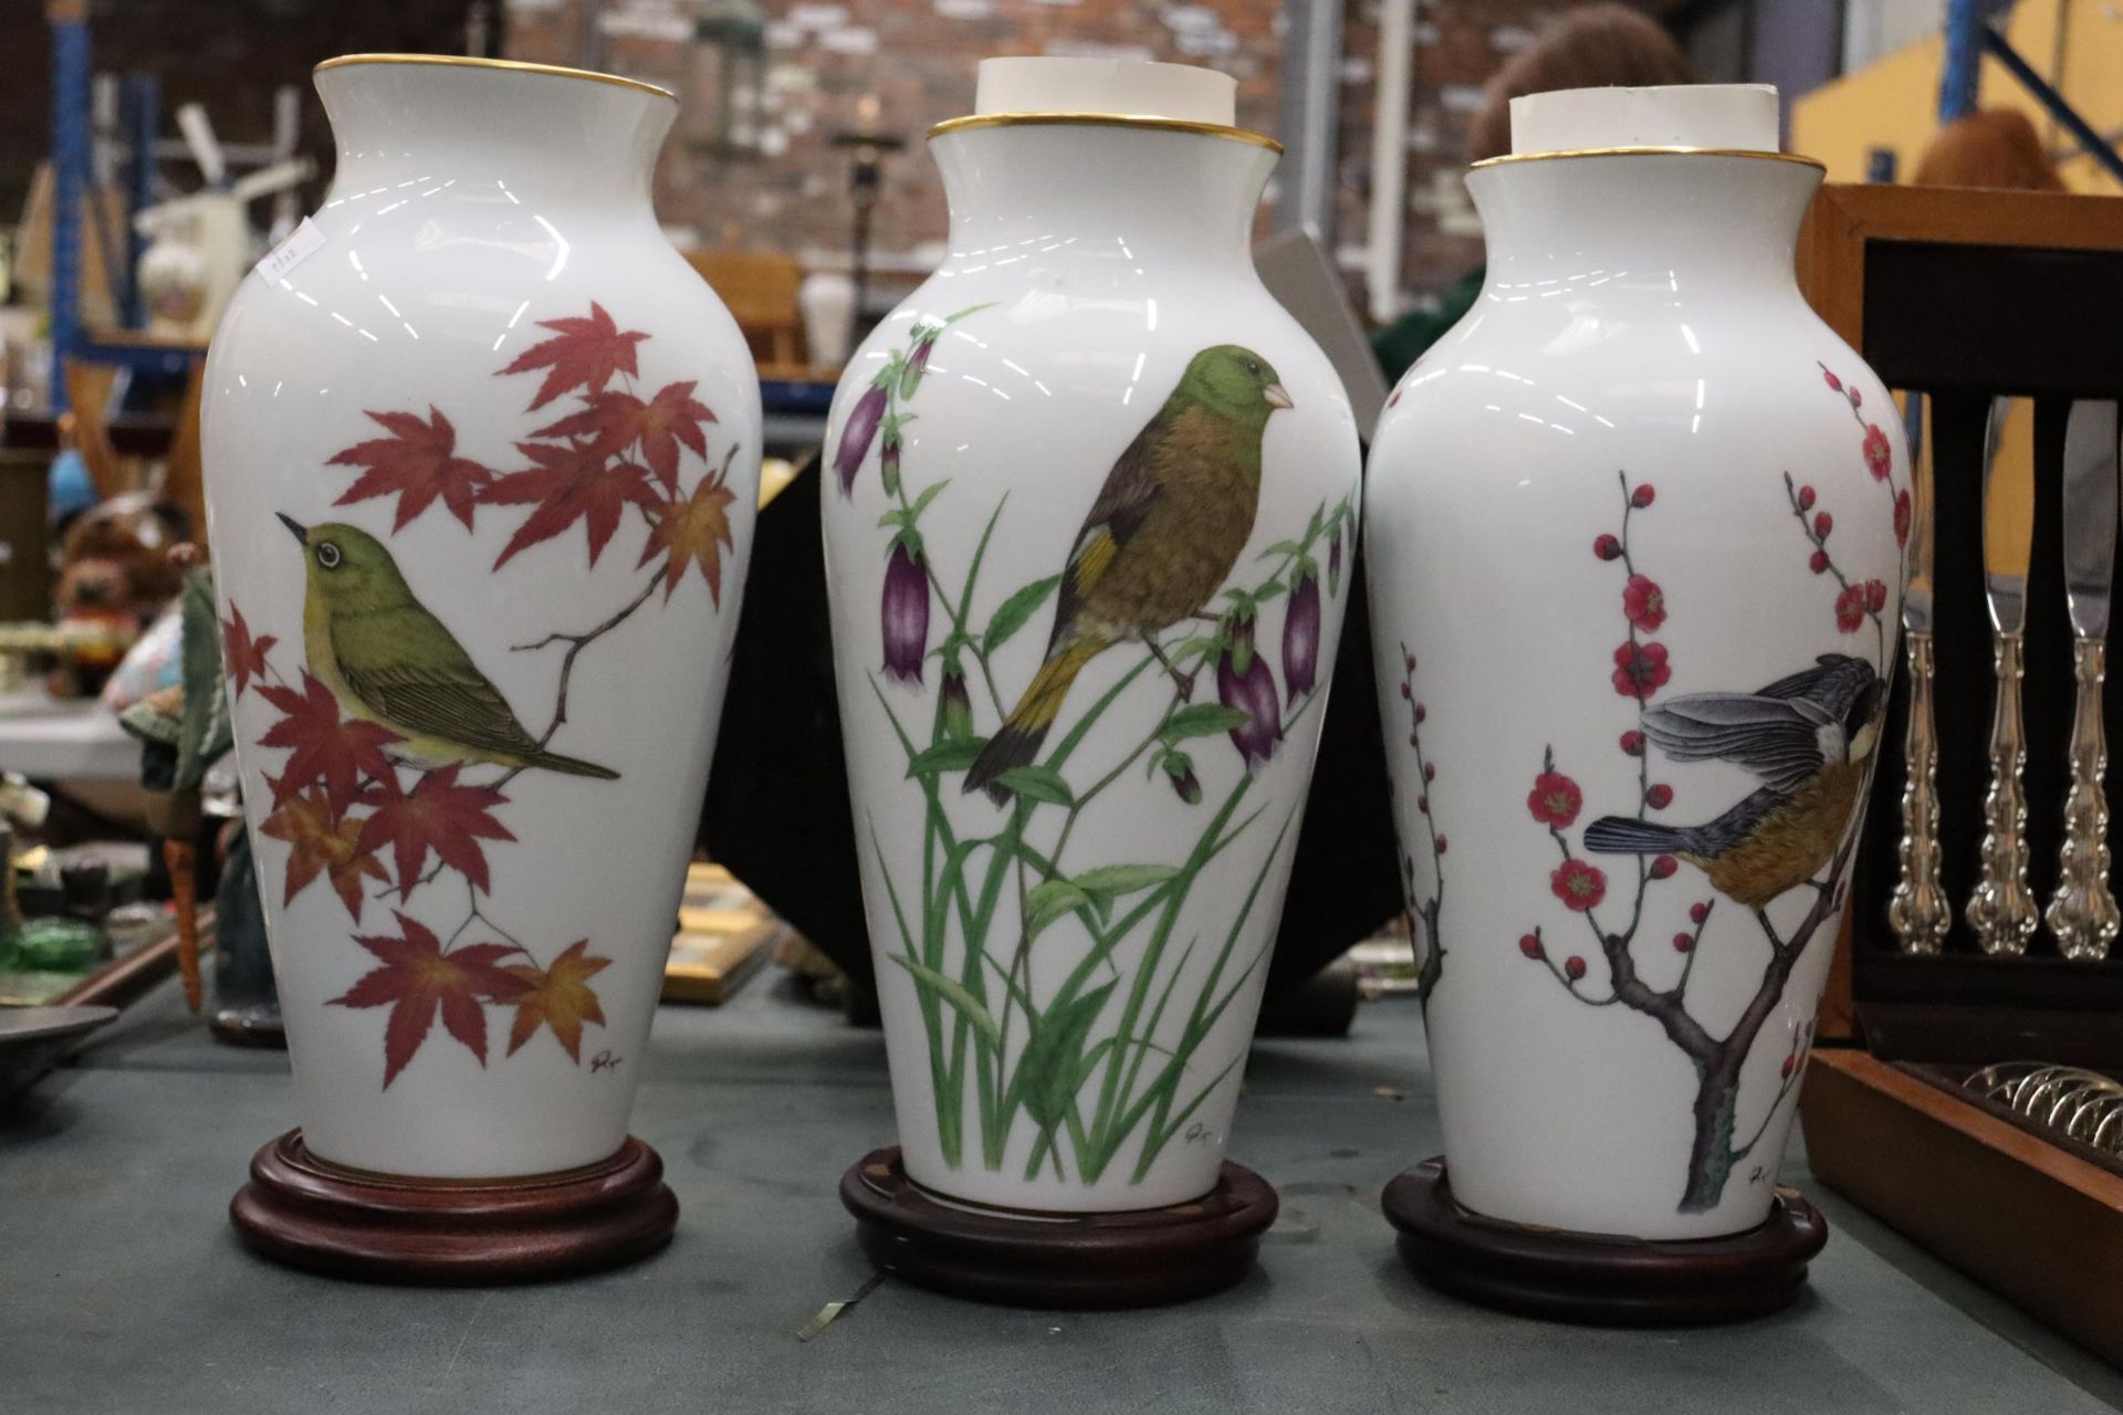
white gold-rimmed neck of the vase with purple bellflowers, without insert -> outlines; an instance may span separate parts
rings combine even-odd
[[[951,202],[938,274],[1068,248],[1115,272],[1185,261],[1250,269],[1274,151],[1238,138],[1104,123],[972,127],[932,142]]]

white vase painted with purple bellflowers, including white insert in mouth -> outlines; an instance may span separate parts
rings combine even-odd
[[[900,1146],[951,1199],[1149,1209],[1225,1158],[1357,433],[1253,274],[1278,149],[1229,127],[1229,78],[991,59],[979,106],[932,136],[949,255],[826,443]]]

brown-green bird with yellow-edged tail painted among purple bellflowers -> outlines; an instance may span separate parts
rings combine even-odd
[[[1134,639],[1163,662],[1157,634],[1216,596],[1253,537],[1261,435],[1278,407],[1291,407],[1291,395],[1250,348],[1219,344],[1189,361],[1106,473],[1062,571],[1047,662],[968,768],[968,791],[1008,798],[996,776],[1032,762],[1070,683],[1112,645]],[[1172,664],[1166,670],[1189,687]]]

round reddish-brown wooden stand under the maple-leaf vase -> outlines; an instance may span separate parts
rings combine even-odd
[[[633,1137],[552,1175],[403,1180],[325,1163],[289,1131],[251,1156],[229,1222],[267,1258],[335,1277],[501,1283],[643,1258],[671,1241],[677,1196]]]

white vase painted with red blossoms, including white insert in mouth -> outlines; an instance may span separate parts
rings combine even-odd
[[[1482,297],[1365,494],[1446,1165],[1490,1218],[1739,1233],[1879,745],[1906,452],[1794,284],[1819,168],[1773,91],[1541,95],[1514,129],[1469,176]]]

